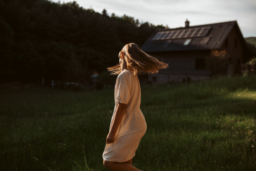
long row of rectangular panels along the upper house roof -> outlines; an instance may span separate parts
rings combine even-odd
[[[152,38],[152,41],[178,39],[178,38],[204,37],[208,33],[210,28],[211,28],[210,26],[205,26],[205,27],[198,27],[198,28],[178,29],[178,30],[157,32],[154,38]]]

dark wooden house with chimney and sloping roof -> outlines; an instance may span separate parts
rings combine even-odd
[[[209,78],[204,61],[211,50],[225,50],[231,59],[230,74],[249,58],[247,44],[236,21],[156,30],[143,44],[144,52],[163,58],[169,68],[148,75],[153,84]]]

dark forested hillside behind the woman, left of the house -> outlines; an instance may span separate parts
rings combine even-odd
[[[117,64],[126,43],[142,46],[162,28],[76,2],[0,0],[0,81],[87,81]]]

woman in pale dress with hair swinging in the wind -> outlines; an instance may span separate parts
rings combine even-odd
[[[140,110],[140,73],[157,73],[168,64],[158,61],[134,43],[126,44],[119,52],[119,65],[109,67],[118,75],[115,86],[115,108],[106,139],[103,164],[111,171],[140,171],[132,166],[140,139],[147,125]]]

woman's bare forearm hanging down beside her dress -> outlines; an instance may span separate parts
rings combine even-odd
[[[107,141],[106,141],[107,144],[114,142],[116,131],[122,121],[122,117],[124,116],[125,109],[126,109],[126,104],[118,103],[113,125],[107,136]]]

